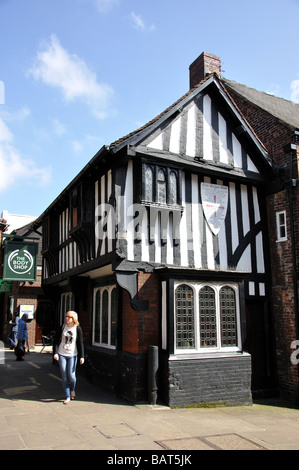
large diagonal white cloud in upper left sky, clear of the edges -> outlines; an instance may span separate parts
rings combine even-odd
[[[66,101],[79,99],[84,102],[97,118],[106,116],[112,88],[98,83],[96,74],[84,60],[64,49],[55,35],[51,36],[49,43],[43,44],[29,74],[48,86],[58,88]]]

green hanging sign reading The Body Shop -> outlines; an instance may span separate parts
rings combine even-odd
[[[7,241],[4,246],[3,279],[35,281],[37,247],[32,242]]]

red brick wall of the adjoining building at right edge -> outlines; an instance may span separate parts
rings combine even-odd
[[[271,114],[253,105],[231,89],[229,90],[233,100],[253,128],[256,135],[263,142],[269,157],[274,164],[281,166],[289,163],[289,154],[285,152],[284,146],[292,142],[294,129],[279,121]],[[292,170],[293,179],[298,179],[298,158],[293,155]],[[299,184],[292,190],[294,195],[294,230],[296,265],[299,266]],[[290,360],[291,343],[296,338],[296,312],[294,302],[293,284],[293,258],[291,239],[291,217],[289,210],[288,191],[283,189],[276,194],[268,196],[268,226],[271,253],[272,270],[272,312],[276,336],[276,357],[278,386],[282,396],[294,401],[299,401],[299,379],[298,366],[293,365]],[[288,239],[277,242],[276,213],[286,211]]]

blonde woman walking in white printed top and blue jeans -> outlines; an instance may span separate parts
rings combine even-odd
[[[84,364],[84,345],[82,329],[76,312],[65,315],[65,323],[53,342],[54,359],[59,361],[62,386],[65,391],[64,404],[75,398],[77,357]]]

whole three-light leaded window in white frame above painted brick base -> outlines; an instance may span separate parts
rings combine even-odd
[[[176,351],[239,351],[241,349],[238,286],[176,283]]]

